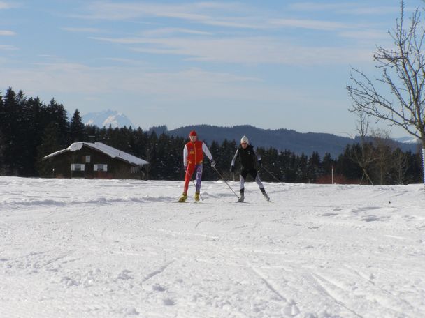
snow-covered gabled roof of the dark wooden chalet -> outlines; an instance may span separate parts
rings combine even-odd
[[[120,151],[118,149],[115,149],[111,146],[108,146],[107,144],[102,144],[101,142],[74,142],[66,149],[62,149],[59,151],[56,151],[54,153],[50,153],[50,155],[45,156],[44,159],[52,158],[60,153],[64,153],[67,151],[78,151],[82,148],[82,146],[87,146],[92,149],[96,149],[98,151],[101,151],[102,153],[105,153],[106,155],[110,156],[111,158],[118,158],[123,161],[132,163],[134,165],[147,165],[149,162],[146,160],[143,160],[141,158],[137,158],[136,156],[130,155],[129,153],[126,153],[124,151]]]

